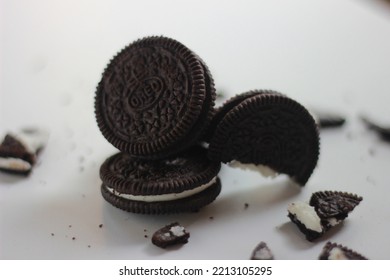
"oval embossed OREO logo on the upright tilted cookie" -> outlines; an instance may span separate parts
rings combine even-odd
[[[143,110],[152,106],[164,91],[165,84],[160,77],[148,77],[130,92],[127,103],[131,109]]]

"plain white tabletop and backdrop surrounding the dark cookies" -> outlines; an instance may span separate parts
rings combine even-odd
[[[1,0],[0,13],[0,133],[29,125],[51,133],[29,177],[0,174],[1,259],[248,259],[260,241],[276,259],[316,259],[327,240],[389,259],[390,144],[359,120],[390,124],[388,1]],[[273,89],[344,114],[343,128],[321,132],[308,184],[224,166],[221,195],[199,213],[144,216],[106,203],[98,170],[116,150],[97,128],[95,87],[117,51],[149,35],[195,51],[225,97]],[[286,208],[318,190],[364,200],[310,243]],[[173,221],[189,243],[152,245]]]

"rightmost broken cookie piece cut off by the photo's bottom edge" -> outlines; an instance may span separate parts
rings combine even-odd
[[[332,243],[328,241],[321,254],[318,257],[319,260],[367,260],[366,257],[361,254],[345,247],[343,245]]]

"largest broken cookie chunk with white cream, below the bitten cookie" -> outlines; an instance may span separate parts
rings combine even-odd
[[[346,192],[316,192],[309,203],[291,203],[287,209],[288,217],[308,241],[314,241],[346,219],[362,200],[362,197]]]

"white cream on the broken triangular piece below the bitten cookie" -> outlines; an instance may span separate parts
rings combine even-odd
[[[321,219],[314,207],[304,202],[294,202],[288,206],[288,212],[295,215],[307,229],[322,232]]]

